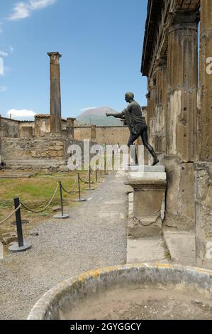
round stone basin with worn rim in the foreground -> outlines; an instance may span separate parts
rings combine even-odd
[[[212,271],[138,264],[89,271],[45,293],[28,320],[211,319]]]

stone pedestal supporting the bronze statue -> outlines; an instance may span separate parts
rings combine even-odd
[[[164,166],[140,166],[130,171],[127,184],[134,190],[133,214],[128,223],[128,237],[162,235],[162,201],[167,187]]]

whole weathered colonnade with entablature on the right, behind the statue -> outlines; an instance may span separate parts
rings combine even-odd
[[[167,172],[165,225],[196,230],[196,264],[212,269],[211,57],[211,0],[148,1],[141,71],[150,141]]]

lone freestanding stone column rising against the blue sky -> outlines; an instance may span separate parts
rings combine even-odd
[[[61,133],[61,95],[60,95],[60,53],[48,53],[50,56],[50,131]]]

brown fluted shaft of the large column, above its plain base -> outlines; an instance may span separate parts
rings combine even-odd
[[[168,48],[167,153],[194,161],[197,136],[199,12],[170,16]]]

